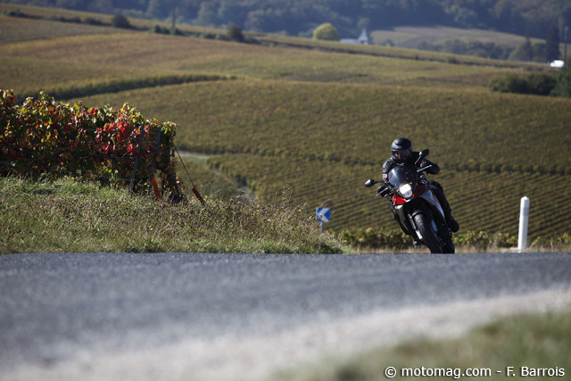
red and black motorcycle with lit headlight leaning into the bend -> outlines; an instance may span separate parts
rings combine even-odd
[[[418,162],[428,155],[421,151]],[[377,196],[392,197],[391,210],[402,230],[412,236],[415,246],[424,244],[430,253],[455,252],[451,229],[446,224],[446,216],[438,198],[431,190],[424,172],[431,165],[411,170],[398,165],[388,174],[388,181],[368,179],[365,186],[383,183],[377,188]]]

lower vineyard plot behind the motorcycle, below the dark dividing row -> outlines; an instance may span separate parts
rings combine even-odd
[[[309,212],[316,206],[333,211],[335,230],[397,228],[385,199],[365,188],[367,174],[378,168],[249,154],[226,154],[211,162],[236,178],[247,178],[263,202],[279,203],[293,197]],[[454,216],[463,230],[517,234],[519,199],[532,200],[529,234],[550,236],[568,232],[569,180],[565,175],[487,170],[446,170],[433,176],[443,184]]]

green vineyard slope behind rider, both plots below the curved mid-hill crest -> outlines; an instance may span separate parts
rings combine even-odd
[[[446,188],[462,229],[515,234],[519,199],[527,195],[535,205],[530,235],[568,232],[571,161],[545,154],[571,145],[567,100],[289,81],[196,83],[161,92],[115,96],[134,96],[149,112],[180,120],[178,145],[214,155],[211,166],[250,186],[260,201],[285,197],[309,213],[326,203],[334,211],[328,226],[337,231],[395,228],[385,201],[362,184],[379,178],[401,134],[418,149],[429,147],[443,167],[434,179]],[[167,94],[177,102],[161,103]],[[186,110],[193,111],[192,123],[184,121]]]

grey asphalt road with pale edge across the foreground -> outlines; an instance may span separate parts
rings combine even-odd
[[[224,379],[224,373],[216,373],[220,362],[233,353],[240,358],[236,351],[245,356],[252,337],[260,351],[243,357],[252,362],[244,366],[255,369],[257,361],[268,360],[265,339],[272,338],[271,345],[289,352],[296,352],[300,343],[317,351],[327,347],[328,339],[310,343],[309,334],[296,342],[294,336],[304,327],[329,327],[327,335],[335,335],[348,324],[351,332],[343,335],[357,335],[357,328],[366,326],[380,332],[375,327],[379,317],[402,311],[426,311],[426,317],[433,313],[437,322],[443,319],[434,315],[439,306],[466,305],[481,311],[485,301],[511,300],[515,307],[501,305],[517,311],[520,300],[539,306],[554,295],[555,304],[571,307],[570,294],[571,253],[4,255],[0,379],[50,379],[50,374],[64,379],[81,372],[91,379],[109,379],[119,371],[136,375],[128,364],[136,367],[137,353],[146,361],[145,375],[155,371],[170,379],[194,379],[185,373],[190,371],[185,370],[187,362],[205,378]],[[532,300],[528,295],[540,296]],[[363,317],[373,319],[366,322]],[[347,324],[335,326],[341,321]],[[396,323],[393,319],[383,324],[386,329]],[[417,329],[423,330],[422,325]],[[236,347],[228,349],[233,343]],[[204,353],[214,348],[217,355]],[[176,357],[173,353],[191,349],[198,352],[169,363]],[[289,358],[295,356],[290,353]],[[122,359],[122,365],[113,368],[113,359]],[[155,360],[152,366],[148,359]],[[96,365],[103,363],[109,365],[104,372]],[[236,379],[250,378],[243,377]]]

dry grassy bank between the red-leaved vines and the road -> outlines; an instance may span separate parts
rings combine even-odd
[[[190,196],[189,196],[190,197]],[[72,179],[0,178],[0,254],[41,252],[344,253],[291,204],[160,203]]]

